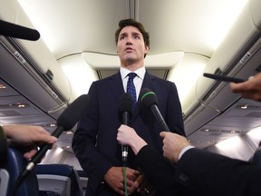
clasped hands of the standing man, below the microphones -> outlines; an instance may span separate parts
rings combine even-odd
[[[126,167],[126,178],[127,178],[127,189],[131,194],[137,190],[139,183],[137,180],[140,175],[140,171],[132,170],[131,168]],[[120,195],[124,196],[124,176],[122,167],[111,167],[104,176],[104,181],[113,189],[118,192]]]

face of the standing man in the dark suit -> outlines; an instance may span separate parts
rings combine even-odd
[[[143,36],[134,26],[125,26],[120,34],[117,44],[117,54],[122,64],[133,64],[144,59],[149,47],[145,46]]]

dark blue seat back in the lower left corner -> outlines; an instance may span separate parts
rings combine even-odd
[[[27,166],[27,160],[24,159],[23,153],[15,148],[9,148],[5,165],[2,166],[0,171],[1,176],[1,196],[12,196],[15,186],[15,181],[18,176],[25,170]],[[2,178],[3,177],[3,178]],[[3,180],[3,181],[2,181]],[[5,192],[5,193],[4,193]],[[18,186],[15,195],[19,196],[38,196],[39,187],[36,178],[36,174],[30,171],[24,180]]]

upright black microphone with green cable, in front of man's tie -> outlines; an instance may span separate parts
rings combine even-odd
[[[119,104],[119,114],[121,122],[129,125],[131,114],[133,110],[133,100],[130,93],[123,93]],[[121,145],[122,162],[127,162],[128,159],[128,146]]]

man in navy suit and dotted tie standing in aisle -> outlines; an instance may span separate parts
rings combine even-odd
[[[89,177],[87,195],[124,195],[122,175],[121,144],[117,132],[121,125],[119,103],[127,91],[129,73],[136,73],[133,79],[137,98],[140,89],[149,88],[159,100],[159,109],[169,129],[185,136],[179,95],[174,83],[157,78],[146,72],[144,58],[150,50],[150,35],[139,22],[121,20],[115,33],[117,54],[121,68],[108,78],[92,83],[89,90],[91,103],[73,136],[73,152],[82,169]],[[137,102],[137,99],[134,100]],[[130,126],[159,154],[162,154],[162,131],[149,110],[136,106]],[[126,185],[131,195],[140,195],[136,189],[140,171],[129,149],[126,162]]]

